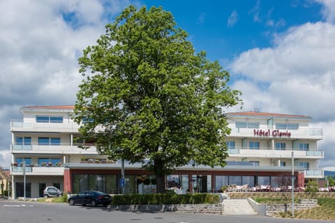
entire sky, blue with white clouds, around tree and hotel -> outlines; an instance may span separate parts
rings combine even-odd
[[[20,107],[73,105],[78,57],[130,4],[170,11],[196,52],[230,72],[244,107],[227,112],[311,116],[323,129],[320,167],[335,170],[334,0],[2,0],[0,166],[10,166],[9,123]]]

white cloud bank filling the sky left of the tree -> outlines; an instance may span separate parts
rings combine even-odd
[[[0,1],[0,162],[10,162],[11,119],[26,105],[73,105],[77,58],[137,1]]]

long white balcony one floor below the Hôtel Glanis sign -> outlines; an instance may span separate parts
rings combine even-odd
[[[293,151],[295,158],[322,159],[323,151]],[[277,151],[272,148],[260,148],[259,150],[247,148],[229,148],[230,157],[269,157],[269,158],[290,158],[292,151]]]

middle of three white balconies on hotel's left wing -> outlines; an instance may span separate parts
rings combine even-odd
[[[87,149],[80,148],[80,144],[59,144],[59,145],[12,145],[12,153],[49,153],[49,154],[97,154],[96,146],[84,144]]]

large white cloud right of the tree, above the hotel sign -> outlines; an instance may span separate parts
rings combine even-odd
[[[244,108],[302,114],[324,125],[322,164],[334,166],[335,25],[317,22],[288,29],[274,38],[274,47],[249,49],[230,64],[242,91]],[[333,163],[332,163],[333,162]]]

